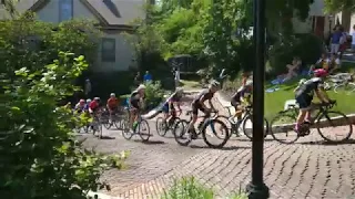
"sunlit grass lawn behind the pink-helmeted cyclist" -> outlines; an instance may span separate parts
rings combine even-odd
[[[298,80],[300,78],[281,85],[276,92],[265,93],[265,117],[267,119],[282,111],[287,100],[294,100],[293,91],[297,86]],[[270,85],[266,85],[266,87],[270,87]],[[334,111],[341,111],[345,114],[355,113],[355,105],[353,104],[353,102],[355,102],[355,93],[347,95],[345,93],[327,91],[327,94],[332,100],[337,101],[337,105],[333,107]],[[314,96],[314,98],[316,98],[316,96]]]

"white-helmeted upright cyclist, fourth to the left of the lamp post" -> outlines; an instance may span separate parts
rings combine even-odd
[[[138,119],[138,113],[142,108],[142,103],[145,93],[145,85],[141,84],[135,91],[132,92],[130,96],[129,107],[130,107],[130,123],[129,126],[133,127],[133,123]]]

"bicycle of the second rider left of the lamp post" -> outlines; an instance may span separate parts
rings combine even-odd
[[[186,115],[190,116],[190,119],[189,121],[180,119],[178,123],[175,123],[174,129],[173,129],[174,138],[175,138],[176,143],[181,146],[187,146],[192,142],[191,133],[187,129],[189,124],[192,121],[192,111],[186,112]],[[202,117],[205,118],[205,115]],[[229,129],[227,129],[226,125],[222,121],[217,119],[217,117],[219,117],[217,112],[212,112],[212,114],[207,118],[205,118],[203,122],[200,122],[197,130],[196,130],[197,136],[200,134],[202,134],[204,143],[211,148],[222,148],[230,138]],[[200,116],[200,118],[201,118],[201,116]],[[207,127],[211,127],[213,135],[215,135],[217,138],[220,138],[219,135],[216,134],[216,129],[215,129],[216,124],[221,125],[220,130],[222,132],[222,134],[224,133],[225,137],[222,138],[223,139],[222,143],[215,145],[215,144],[212,144],[207,139],[207,134],[211,134],[210,132],[207,132]],[[178,132],[179,127],[182,127],[182,130]],[[187,137],[183,137],[184,135],[186,135]],[[211,136],[211,137],[213,137],[213,136]],[[180,140],[180,139],[182,139],[182,140]]]

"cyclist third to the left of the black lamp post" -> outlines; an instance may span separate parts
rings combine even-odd
[[[183,95],[183,90],[181,87],[176,87],[175,93],[171,97],[169,97],[165,104],[163,105],[165,126],[168,126],[168,124],[169,125],[172,124],[174,122],[174,118],[176,117],[176,109],[174,105],[176,105],[179,112],[181,112],[180,101],[182,98],[182,95]],[[169,121],[168,124],[166,124],[166,121]]]

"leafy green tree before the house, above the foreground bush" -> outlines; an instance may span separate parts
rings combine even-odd
[[[89,21],[68,21],[54,25],[24,13],[16,20],[0,21],[0,72],[13,75],[27,66],[31,72],[58,57],[58,52],[70,51],[90,57],[93,63],[99,32]]]

